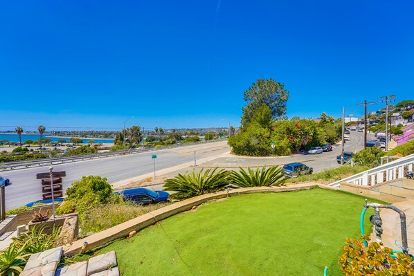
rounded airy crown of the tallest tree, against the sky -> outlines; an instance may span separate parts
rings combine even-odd
[[[262,107],[262,104],[269,107],[273,118],[283,118],[286,114],[288,98],[289,92],[285,89],[285,84],[271,78],[258,79],[251,84],[249,89],[244,91],[244,100],[247,104],[242,109],[242,126],[246,126],[251,121],[253,114]]]

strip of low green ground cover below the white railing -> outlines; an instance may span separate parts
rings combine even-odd
[[[315,181],[318,183],[332,183],[334,181],[339,181],[345,177],[352,176],[354,174],[359,174],[360,172],[366,171],[370,167],[366,166],[341,166],[336,167],[335,169],[325,169],[323,172],[318,172],[317,174],[307,174],[304,176],[298,176],[296,178],[288,178],[286,183],[298,183],[298,182],[309,182]]]

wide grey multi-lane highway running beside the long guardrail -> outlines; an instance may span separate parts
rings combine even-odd
[[[228,152],[228,149],[227,141],[224,140],[175,149],[162,149],[141,154],[91,159],[52,166],[55,172],[66,171],[66,177],[64,177],[63,181],[63,188],[66,190],[71,183],[80,180],[82,176],[102,176],[106,177],[109,183],[114,183],[154,172],[152,154],[157,156],[156,169],[165,169],[174,165],[192,162],[194,160],[194,151],[196,151],[196,158],[201,159],[224,154]],[[1,176],[9,178],[12,183],[6,187],[6,210],[42,199],[42,186],[40,181],[36,179],[36,174],[48,172],[48,167],[50,166],[44,165],[42,167],[0,172]]]

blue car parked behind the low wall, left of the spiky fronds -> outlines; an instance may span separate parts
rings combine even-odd
[[[132,201],[133,203],[156,203],[161,201],[167,201],[168,192],[164,191],[153,191],[146,188],[133,188],[115,192],[123,197],[127,201]]]

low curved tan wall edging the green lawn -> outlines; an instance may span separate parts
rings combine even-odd
[[[102,232],[92,234],[89,237],[84,239],[80,239],[78,241],[74,241],[72,244],[66,245],[64,247],[64,255],[66,256],[73,256],[78,254],[82,250],[82,246],[87,244],[84,250],[90,250],[96,248],[98,246],[102,246],[109,241],[114,241],[115,239],[127,237],[129,232],[132,231],[139,231],[147,226],[151,226],[152,224],[156,223],[157,221],[161,221],[162,219],[166,219],[168,217],[173,216],[174,214],[178,214],[180,212],[191,210],[194,206],[200,205],[207,201],[213,199],[222,199],[227,196],[235,196],[238,194],[250,194],[250,193],[257,193],[257,192],[290,192],[290,191],[297,191],[297,190],[309,190],[313,187],[321,187],[324,189],[330,190],[338,190],[334,187],[329,187],[326,185],[321,185],[319,183],[305,183],[299,185],[289,185],[284,187],[249,187],[249,188],[240,188],[240,189],[233,189],[229,192],[216,192],[213,194],[204,194],[201,196],[195,196],[190,199],[186,199],[183,201],[179,201],[172,205],[165,206],[164,208],[160,208],[158,210],[154,210],[150,213],[144,214],[140,217],[136,217],[135,219],[131,219],[129,221],[125,221],[124,223],[120,223],[118,226],[114,226],[107,230],[103,230]]]

